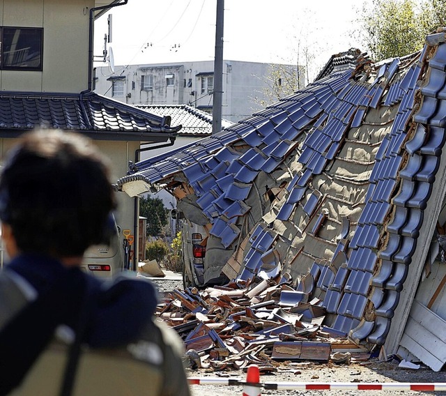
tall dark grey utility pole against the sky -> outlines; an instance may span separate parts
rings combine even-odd
[[[223,96],[223,16],[224,0],[217,0],[217,22],[215,24],[214,91],[212,105],[212,133],[222,130]]]

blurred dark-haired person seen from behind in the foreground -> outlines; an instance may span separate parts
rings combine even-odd
[[[73,132],[28,132],[0,175],[0,395],[190,395],[183,344],[146,280],[80,266],[116,227],[107,160]]]

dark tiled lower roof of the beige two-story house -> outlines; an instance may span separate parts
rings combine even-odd
[[[59,128],[93,134],[96,139],[165,140],[181,128],[169,116],[150,114],[90,92],[81,94],[0,93],[0,135],[33,128]]]

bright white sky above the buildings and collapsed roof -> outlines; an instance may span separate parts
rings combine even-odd
[[[365,0],[370,2],[370,0]],[[362,44],[351,38],[364,0],[226,0],[223,58],[320,69],[332,54]],[[95,66],[112,14],[114,64],[208,61],[215,54],[217,0],[128,0],[95,22]],[[300,50],[298,50],[298,48]]]

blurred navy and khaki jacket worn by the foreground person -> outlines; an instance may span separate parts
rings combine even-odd
[[[48,257],[17,257],[0,273],[0,395],[57,395],[79,323],[74,395],[189,395],[182,344],[153,319],[156,301],[146,280],[102,282]]]

